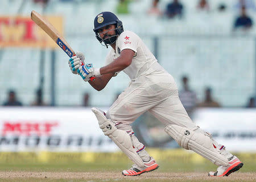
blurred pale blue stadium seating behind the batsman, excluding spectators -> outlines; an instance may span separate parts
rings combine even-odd
[[[159,8],[164,11],[168,2],[170,1],[160,1]],[[255,93],[255,26],[246,33],[232,32],[234,19],[239,14],[234,7],[235,1],[232,0],[208,1],[209,12],[197,11],[197,0],[180,2],[184,5],[183,19],[168,20],[164,16],[156,18],[147,15],[146,12],[151,6],[151,1],[148,0],[131,2],[131,14],[118,17],[125,29],[136,32],[152,52],[156,53],[160,64],[174,76],[179,87],[179,78],[186,74],[199,100],[203,100],[205,86],[210,86],[214,88],[215,98],[222,106],[242,107],[247,98]],[[219,12],[217,7],[223,2],[227,9]],[[84,52],[86,61],[92,62],[96,67],[104,64],[109,50],[101,47],[95,39],[92,31],[93,19],[99,11],[114,12],[117,1],[53,0],[49,1],[46,9],[32,1],[23,3],[2,0],[1,3],[0,16],[14,16],[17,12],[22,16],[29,16],[31,10],[46,15],[63,16],[64,36],[73,49]],[[247,12],[255,22],[255,12]],[[74,19],[71,14],[76,14],[77,18]],[[73,24],[79,27],[74,28]],[[1,51],[0,77],[8,77],[0,82],[0,103],[5,100],[6,92],[14,88],[22,103],[29,105],[39,84],[40,50],[5,48]],[[49,61],[51,50],[47,49],[43,87],[46,103],[51,103],[51,74],[47,64]],[[96,92],[79,77],[75,78],[69,73],[67,56],[60,50],[56,50],[55,61],[59,71],[56,75],[56,105],[81,105],[79,100],[82,94],[88,92],[93,105],[108,106],[112,104],[115,92],[123,90],[129,81],[121,73],[110,81],[105,90]],[[4,62],[15,64],[13,67],[5,67]],[[26,65],[30,65],[31,70],[28,71]],[[14,69],[19,69],[19,73],[13,74],[11,71]],[[83,90],[76,89],[80,86]],[[71,93],[72,101],[69,99]]]

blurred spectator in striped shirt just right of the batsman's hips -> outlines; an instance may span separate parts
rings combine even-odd
[[[179,91],[179,98],[181,103],[183,104],[185,110],[188,113],[189,117],[192,117],[193,109],[196,107],[196,93],[190,90],[188,85],[188,77],[182,78],[183,89]]]

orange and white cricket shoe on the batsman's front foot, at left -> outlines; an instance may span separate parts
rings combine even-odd
[[[137,176],[141,175],[144,172],[154,171],[157,168],[159,168],[159,166],[158,164],[156,164],[155,159],[151,156],[148,162],[144,162],[143,168],[137,166],[136,164],[133,164],[133,166],[131,166],[129,170],[123,170],[122,174],[124,176]]]

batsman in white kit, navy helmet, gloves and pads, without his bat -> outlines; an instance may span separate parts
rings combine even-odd
[[[214,141],[212,134],[192,122],[180,102],[172,75],[158,64],[138,35],[123,30],[117,16],[112,12],[101,12],[94,19],[93,31],[102,45],[112,47],[106,56],[105,66],[82,65],[84,55],[80,53],[68,61],[69,67],[73,74],[79,74],[97,91],[102,90],[120,71],[130,77],[128,87],[107,113],[92,108],[102,132],[134,162],[130,169],[122,171],[123,175],[141,175],[159,167],[135,137],[130,125],[146,111],[163,122],[166,126],[164,131],[181,147],[195,151],[218,166],[216,172],[209,172],[209,176],[228,176],[243,166],[237,156]],[[91,81],[90,77],[96,78]]]

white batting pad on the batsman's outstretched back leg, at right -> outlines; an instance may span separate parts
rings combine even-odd
[[[195,153],[212,161],[217,166],[228,165],[228,159],[214,149],[212,139],[208,133],[193,131],[178,125],[168,125],[164,129],[184,149],[195,151]]]

